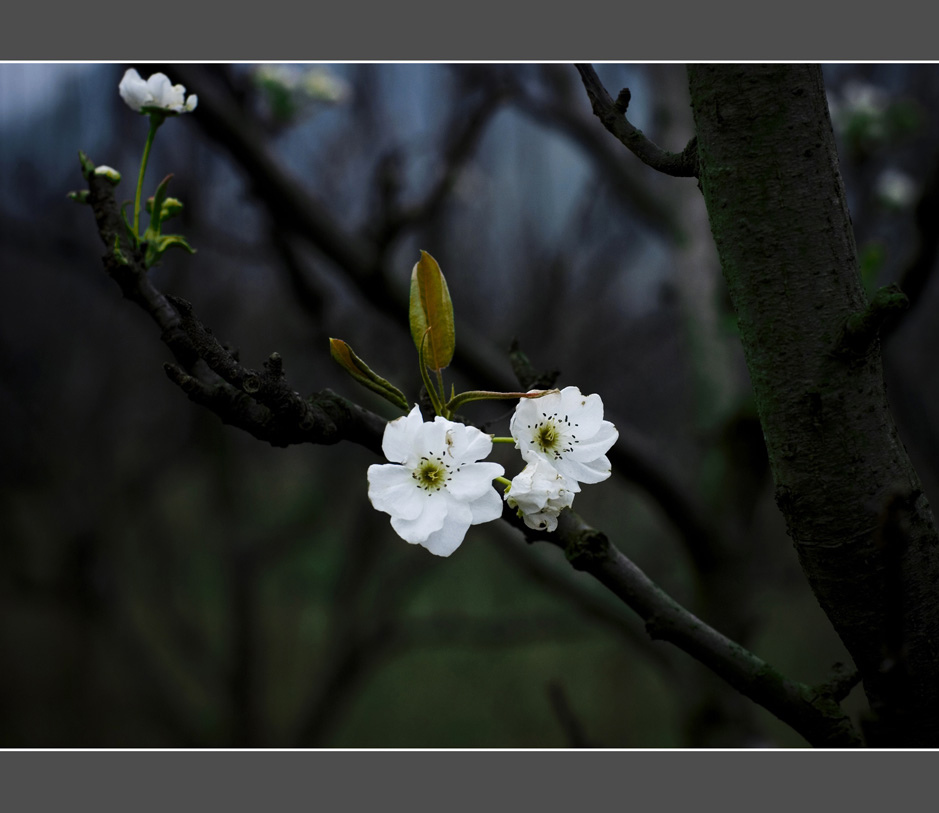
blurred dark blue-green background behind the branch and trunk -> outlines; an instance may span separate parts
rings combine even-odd
[[[133,197],[146,121],[117,94],[125,67],[0,65],[0,746],[804,745],[649,642],[553,547],[490,523],[433,557],[370,508],[373,455],[272,448],[191,404],[104,274],[90,210],[66,198],[79,149]],[[614,95],[630,87],[634,124],[684,147],[681,66],[597,69]],[[517,339],[561,385],[600,393],[622,457],[577,510],[706,621],[792,678],[826,679],[846,655],[773,503],[694,181],[615,142],[571,65],[316,70],[340,98],[297,91],[286,110],[256,66],[165,67],[200,107],[159,131],[145,191],[174,174],[186,209],[170,225],[198,253],[169,252],[155,284],[247,365],[277,351],[302,393],[392,418],[327,338],[415,398],[406,295],[429,251],[454,298],[457,387],[511,384]],[[825,77],[865,282],[900,281],[913,302],[886,339],[888,389],[935,495],[939,70]],[[219,109],[237,113],[228,130],[210,124]],[[272,192],[259,156],[315,207]],[[888,169],[908,200],[884,199]],[[330,256],[304,219],[321,211],[340,245],[381,247],[378,277]],[[473,418],[504,434],[507,414]],[[688,505],[715,539],[689,530]],[[861,710],[859,690],[848,702]]]

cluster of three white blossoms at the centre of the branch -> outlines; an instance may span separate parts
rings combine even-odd
[[[526,465],[509,481],[497,463],[479,462],[492,449],[489,435],[439,415],[424,422],[418,407],[385,428],[382,451],[390,461],[368,470],[368,496],[405,541],[449,556],[470,525],[497,519],[502,499],[492,483],[508,487],[504,499],[529,528],[553,531],[581,483],[610,476],[606,452],[618,433],[603,419],[599,395],[577,387],[519,401],[510,423]],[[508,439],[507,439],[508,440]]]

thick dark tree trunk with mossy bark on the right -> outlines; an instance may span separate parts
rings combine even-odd
[[[939,540],[887,403],[812,65],[689,68],[699,177],[802,568],[857,664],[872,745],[939,745]]]

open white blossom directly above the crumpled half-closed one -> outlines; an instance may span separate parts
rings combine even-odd
[[[565,387],[540,398],[522,398],[509,424],[515,446],[526,463],[544,459],[559,474],[580,483],[610,476],[606,453],[619,437],[603,420],[603,401]]]

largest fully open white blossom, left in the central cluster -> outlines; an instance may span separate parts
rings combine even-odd
[[[382,451],[391,462],[369,466],[368,498],[406,542],[449,556],[470,525],[502,515],[492,481],[505,470],[477,462],[492,451],[478,429],[440,416],[425,423],[415,406],[385,427]]]

